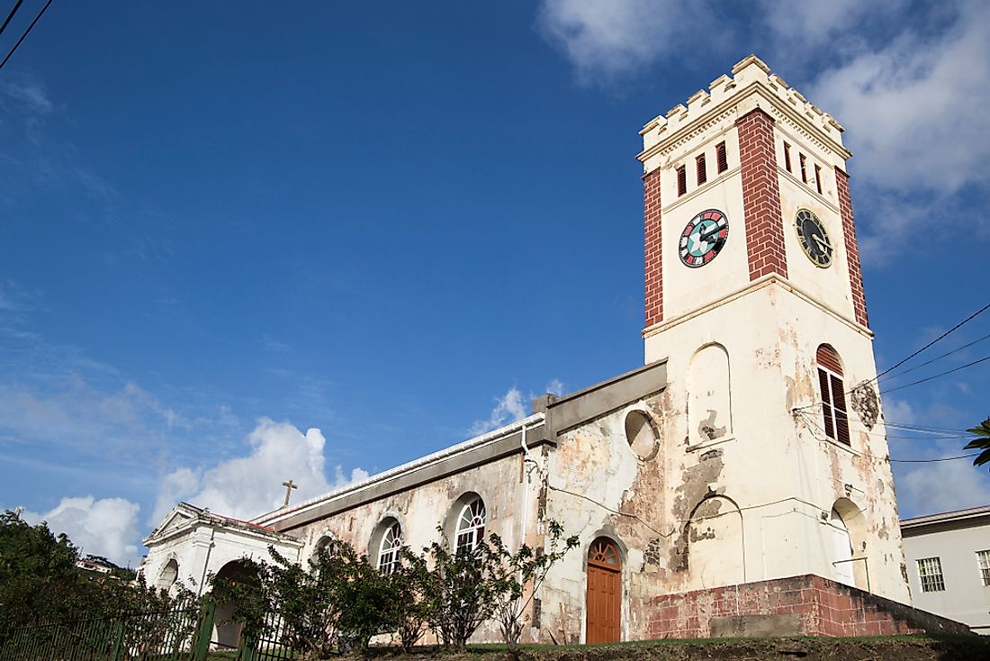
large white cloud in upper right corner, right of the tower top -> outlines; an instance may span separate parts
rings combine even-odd
[[[908,30],[819,76],[809,98],[854,126],[870,183],[954,192],[990,157],[990,5],[961,3],[937,38]]]

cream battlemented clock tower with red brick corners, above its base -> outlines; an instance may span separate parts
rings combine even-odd
[[[755,55],[641,131],[666,470],[719,462],[710,515],[675,512],[706,521],[681,590],[813,575],[910,599],[841,134]]]

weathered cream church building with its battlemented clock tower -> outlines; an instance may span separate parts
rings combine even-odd
[[[910,607],[841,125],[749,55],[640,134],[643,367],[249,522],[179,504],[148,583],[331,537],[387,571],[438,525],[540,548],[554,519],[580,546],[530,641],[951,628]]]

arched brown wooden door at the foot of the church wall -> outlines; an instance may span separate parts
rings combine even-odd
[[[618,642],[622,631],[622,560],[611,539],[599,537],[588,549],[585,642]]]

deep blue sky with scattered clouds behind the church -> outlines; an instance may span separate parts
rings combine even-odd
[[[990,16],[817,4],[53,3],[0,70],[0,506],[135,562],[177,498],[249,516],[637,367],[638,131],[748,53],[846,128],[897,362],[990,299]],[[975,425],[988,365],[887,418]],[[902,515],[990,502],[895,476]]]

